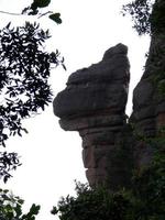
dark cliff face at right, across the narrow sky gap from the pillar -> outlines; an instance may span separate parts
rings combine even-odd
[[[165,57],[164,53],[160,53],[165,51],[165,43],[162,37],[162,41],[157,38],[152,37],[145,72],[133,91],[133,113],[130,117],[134,132],[146,138],[155,136],[165,125]]]

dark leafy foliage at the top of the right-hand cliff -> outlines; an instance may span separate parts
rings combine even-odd
[[[131,14],[133,28],[140,35],[165,30],[165,2],[163,0],[134,0],[123,6],[122,13]]]

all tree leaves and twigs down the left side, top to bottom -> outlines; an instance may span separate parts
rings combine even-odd
[[[40,16],[50,14],[50,19],[62,23],[59,13],[48,11],[42,14],[37,10],[50,2],[34,0],[22,13]],[[22,121],[43,111],[52,101],[53,92],[48,84],[51,68],[58,65],[65,68],[65,65],[57,50],[51,53],[44,50],[50,37],[48,30],[44,31],[38,24],[30,22],[18,28],[9,23],[0,30],[0,146],[6,147],[11,135],[28,133]],[[20,165],[15,152],[0,152],[0,178],[4,183],[11,177],[11,170]],[[40,206],[33,204],[29,212],[23,213],[23,204],[20,197],[0,189],[0,219],[34,220]]]

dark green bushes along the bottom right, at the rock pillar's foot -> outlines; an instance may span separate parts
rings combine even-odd
[[[62,198],[52,210],[61,220],[164,220],[165,139],[152,139],[153,158],[136,169],[130,189],[116,193],[77,184],[76,197]]]

